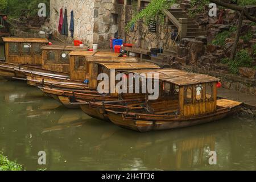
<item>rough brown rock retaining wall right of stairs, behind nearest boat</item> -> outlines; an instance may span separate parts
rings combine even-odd
[[[175,58],[180,69],[218,77],[223,88],[256,95],[256,70],[240,68],[238,75],[231,74],[228,65],[221,63],[227,51],[220,46],[208,45],[206,39],[181,41]]]

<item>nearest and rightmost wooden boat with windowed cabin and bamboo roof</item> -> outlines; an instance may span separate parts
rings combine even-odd
[[[129,71],[127,71],[129,73]],[[194,126],[217,121],[236,113],[242,103],[217,100],[218,78],[192,74],[176,69],[130,71],[148,76],[159,74],[157,100],[143,98],[104,102],[80,102],[86,113],[112,121],[127,129],[146,132]],[[91,114],[90,114],[91,115]]]

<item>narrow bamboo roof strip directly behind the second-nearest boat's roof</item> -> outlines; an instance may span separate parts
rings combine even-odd
[[[138,59],[134,57],[86,57],[88,62],[97,63],[137,63]]]

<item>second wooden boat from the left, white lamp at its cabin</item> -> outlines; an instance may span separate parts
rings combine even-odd
[[[6,47],[8,44],[6,44]],[[16,80],[26,80],[28,73],[47,75],[50,73],[55,77],[69,76],[69,56],[73,50],[87,49],[77,46],[42,46],[42,60],[39,64],[15,64],[0,63],[0,75]],[[68,66],[67,66],[68,65]],[[47,73],[47,74],[46,74]],[[48,75],[49,77],[49,75]]]

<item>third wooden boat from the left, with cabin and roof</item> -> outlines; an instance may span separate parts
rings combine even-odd
[[[27,83],[33,86],[51,86],[59,89],[81,89],[84,90],[87,85],[86,79],[90,79],[91,73],[97,68],[93,67],[96,62],[102,63],[122,63],[138,62],[135,58],[119,57],[119,53],[113,52],[90,52],[90,51],[72,51],[69,53],[69,78],[51,77],[47,78],[44,74],[27,74]],[[104,57],[101,57],[104,56]],[[63,84],[65,82],[65,84]]]

